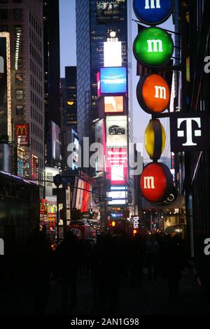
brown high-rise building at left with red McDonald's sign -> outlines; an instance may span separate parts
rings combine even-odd
[[[43,194],[44,79],[43,3],[0,3],[0,31],[10,35],[11,133],[18,147],[18,174],[36,181]]]

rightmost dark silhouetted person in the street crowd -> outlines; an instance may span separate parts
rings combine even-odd
[[[176,297],[179,293],[181,271],[185,267],[183,243],[179,235],[168,239],[165,246],[165,271],[169,285],[169,297]]]

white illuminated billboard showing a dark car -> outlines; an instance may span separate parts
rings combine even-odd
[[[127,116],[106,116],[106,146],[127,147]]]

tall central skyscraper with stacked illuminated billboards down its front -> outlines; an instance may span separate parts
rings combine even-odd
[[[128,143],[132,141],[132,97],[129,97],[132,66],[131,2],[76,1],[76,55],[78,137],[102,145],[96,169],[104,172],[101,193],[113,196],[107,204],[123,209],[130,204]],[[129,81],[129,83],[128,83]],[[100,161],[102,160],[102,161]],[[104,162],[104,165],[102,165]],[[109,186],[110,188],[104,188]],[[106,218],[106,207],[104,207]],[[125,218],[125,217],[124,217]],[[106,226],[106,219],[104,222]]]

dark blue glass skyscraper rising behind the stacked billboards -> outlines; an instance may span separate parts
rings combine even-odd
[[[106,10],[106,6],[109,7]],[[97,72],[104,66],[104,42],[111,32],[122,43],[122,66],[128,67],[128,37],[131,18],[127,0],[76,1],[76,58],[78,88],[78,135],[90,137],[90,125],[99,116]],[[130,13],[130,10],[128,10]],[[130,49],[132,50],[132,49]],[[130,109],[127,109],[130,111]],[[132,116],[132,115],[131,115]]]

